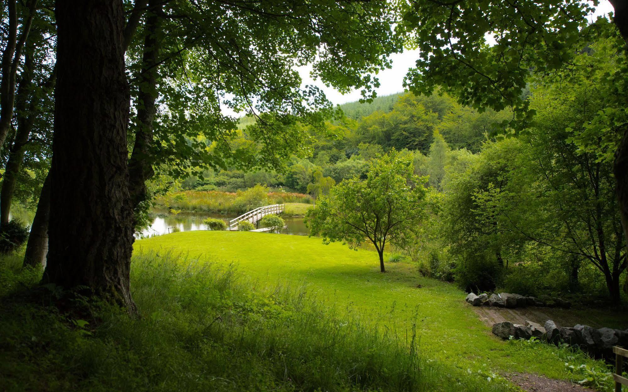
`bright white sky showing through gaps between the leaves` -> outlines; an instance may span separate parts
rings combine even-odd
[[[608,14],[613,11],[613,7],[608,0],[601,0],[600,4],[595,8],[595,13],[590,16],[590,20],[593,21],[597,16]],[[383,70],[377,74],[379,78],[380,87],[376,89],[377,96],[390,95],[403,91],[403,78],[406,76],[409,68],[414,66],[414,61],[418,58],[418,50],[408,50],[404,53],[398,53],[391,56],[393,60],[393,67],[387,70]],[[326,87],[320,80],[312,80],[310,78],[311,66],[303,66],[297,68],[301,79],[302,85],[315,85],[327,95],[327,99],[333,104],[353,102],[359,100],[362,95],[359,90],[347,94],[341,94],[331,87]]]

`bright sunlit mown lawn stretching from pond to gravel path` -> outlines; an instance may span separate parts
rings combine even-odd
[[[455,285],[421,277],[406,262],[388,263],[389,272],[379,273],[376,253],[368,250],[323,245],[320,238],[228,231],[173,233],[136,241],[134,249],[136,253],[174,249],[190,257],[236,263],[254,285],[306,282],[330,308],[379,322],[401,336],[416,322],[426,360],[484,378],[516,371],[580,380],[582,374],[571,373],[566,362],[604,367],[555,346],[501,341]]]

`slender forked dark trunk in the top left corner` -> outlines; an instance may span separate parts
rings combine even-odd
[[[2,56],[2,82],[0,82],[0,147],[4,145],[4,140],[11,129],[13,120],[13,107],[15,104],[15,78],[18,72],[21,50],[30,33],[33,18],[35,17],[35,7],[37,0],[30,0],[26,8],[28,16],[24,18],[22,31],[18,40],[18,16],[16,11],[16,0],[9,0],[9,35],[6,48]]]

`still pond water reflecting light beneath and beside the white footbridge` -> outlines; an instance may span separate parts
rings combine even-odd
[[[172,215],[166,211],[155,210],[151,213],[153,216],[153,223],[151,226],[141,232],[137,238],[148,238],[156,235],[163,235],[173,233],[173,231],[192,231],[192,230],[207,230],[207,225],[203,224],[203,220],[207,218],[219,218],[227,222],[236,218],[236,215],[219,215],[219,214],[202,214],[202,213],[186,213],[181,212],[177,215]],[[283,230],[284,234],[291,235],[308,235],[310,230],[303,223],[303,216],[289,216],[284,217],[286,221],[287,229]]]

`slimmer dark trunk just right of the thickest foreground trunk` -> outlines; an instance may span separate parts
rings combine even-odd
[[[146,200],[146,181],[153,176],[150,159],[153,146],[153,123],[157,107],[157,73],[161,23],[161,0],[150,0],[144,36],[144,54],[139,77],[137,130],[133,153],[129,159],[129,193],[133,208]]]

